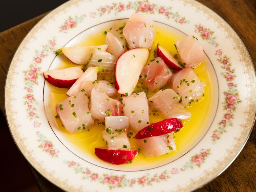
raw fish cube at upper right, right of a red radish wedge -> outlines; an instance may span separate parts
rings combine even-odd
[[[185,67],[194,67],[198,63],[206,60],[206,55],[199,41],[191,35],[176,41],[176,47],[182,63]]]

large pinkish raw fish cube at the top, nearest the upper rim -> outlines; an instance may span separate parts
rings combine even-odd
[[[150,49],[156,38],[153,20],[149,15],[131,15],[123,31],[123,35],[131,49],[143,47]]]

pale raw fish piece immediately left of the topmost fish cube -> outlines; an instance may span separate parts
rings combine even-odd
[[[123,52],[127,50],[126,40],[124,35],[122,35],[122,29],[124,27],[124,22],[117,22],[110,32],[107,33],[105,44],[108,44],[107,52],[118,58]]]

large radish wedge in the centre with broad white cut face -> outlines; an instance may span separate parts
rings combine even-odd
[[[117,59],[115,65],[115,84],[117,91],[123,95],[130,95],[134,90],[141,70],[148,60],[147,48],[134,48],[124,52]]]

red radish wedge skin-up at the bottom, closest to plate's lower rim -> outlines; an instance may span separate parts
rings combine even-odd
[[[95,148],[95,155],[97,155],[98,158],[116,165],[132,161],[137,153],[138,150],[108,150]]]

